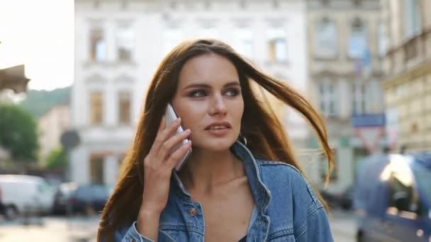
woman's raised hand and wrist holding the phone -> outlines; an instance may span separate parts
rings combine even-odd
[[[190,129],[175,134],[179,125],[180,118],[166,127],[163,117],[155,142],[144,159],[144,192],[140,215],[161,214],[166,207],[172,169],[191,147],[191,142],[188,142],[171,154],[172,149],[190,135]]]

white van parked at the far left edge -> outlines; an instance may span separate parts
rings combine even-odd
[[[51,211],[54,191],[35,175],[0,175],[4,215],[14,219],[18,214],[44,214]]]

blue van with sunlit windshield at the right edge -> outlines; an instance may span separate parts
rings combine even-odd
[[[354,208],[357,241],[431,241],[431,152],[366,159]]]

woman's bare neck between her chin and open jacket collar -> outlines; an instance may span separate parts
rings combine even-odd
[[[244,175],[242,161],[229,149],[217,152],[194,149],[179,173],[186,189],[199,193],[211,193]]]

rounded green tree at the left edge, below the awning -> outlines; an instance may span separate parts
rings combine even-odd
[[[18,105],[0,103],[0,146],[16,161],[35,161],[39,142],[35,117]]]

